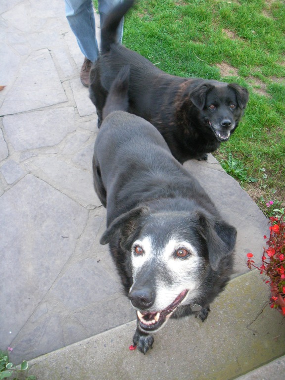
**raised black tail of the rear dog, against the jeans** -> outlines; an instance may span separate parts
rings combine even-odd
[[[103,25],[101,26],[101,53],[110,50],[111,44],[116,43],[117,29],[121,19],[133,6],[135,0],[125,0],[114,7],[107,15]]]

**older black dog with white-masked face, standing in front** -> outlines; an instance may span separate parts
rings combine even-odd
[[[110,245],[137,310],[133,342],[145,353],[169,317],[204,321],[233,268],[236,229],[224,222],[160,133],[128,109],[129,66],[107,97],[93,159],[95,190],[107,207]],[[118,109],[115,111],[115,109]],[[109,113],[110,111],[113,111]]]

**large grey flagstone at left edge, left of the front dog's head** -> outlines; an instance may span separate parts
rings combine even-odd
[[[5,221],[0,231],[0,304],[7,317],[1,319],[0,336],[5,347],[61,272],[88,211],[27,175],[0,197],[0,215]]]

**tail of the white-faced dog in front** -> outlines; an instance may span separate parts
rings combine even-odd
[[[130,65],[124,65],[116,76],[103,108],[103,120],[113,111],[128,111]]]

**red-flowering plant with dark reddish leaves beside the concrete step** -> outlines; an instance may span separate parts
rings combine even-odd
[[[266,242],[267,247],[263,248],[262,264],[255,265],[250,252],[247,253],[246,264],[249,269],[256,268],[260,274],[265,273],[269,277],[269,280],[264,281],[271,288],[270,307],[285,315],[285,213],[269,219],[270,236]]]

